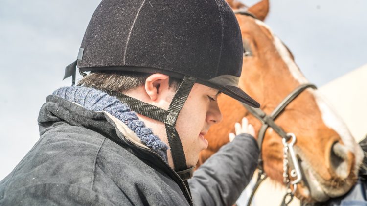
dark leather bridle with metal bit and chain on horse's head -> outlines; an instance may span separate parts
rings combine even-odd
[[[254,19],[258,19],[256,18],[254,14],[248,12],[247,10],[234,10],[234,13],[242,14],[242,15],[250,16]],[[251,205],[253,196],[257,188],[261,184],[261,182],[263,182],[268,177],[263,169],[261,149],[262,149],[262,143],[264,141],[265,132],[269,127],[274,129],[275,132],[282,138],[282,143],[284,146],[283,147],[283,157],[284,157],[283,159],[283,181],[287,185],[287,189],[290,189],[290,185],[293,185],[293,190],[287,192],[284,195],[281,206],[287,206],[293,200],[294,193],[297,190],[297,184],[302,180],[302,173],[299,168],[297,156],[293,149],[293,145],[296,142],[296,136],[293,133],[285,132],[280,126],[275,124],[275,119],[279,116],[279,114],[285,109],[285,107],[289,103],[291,103],[296,97],[298,97],[299,94],[301,94],[307,88],[317,89],[316,85],[311,84],[311,83],[305,83],[305,84],[299,85],[287,97],[285,97],[285,99],[281,103],[278,104],[278,106],[273,110],[273,112],[270,115],[266,114],[261,108],[253,108],[245,103],[242,103],[242,105],[262,123],[262,126],[258,133],[258,139],[257,139],[257,144],[259,146],[259,151],[260,151],[259,159],[258,159],[259,173],[257,176],[256,183],[252,189],[252,193],[248,200],[247,206]],[[289,141],[291,142],[288,143]],[[290,160],[292,161],[292,165],[294,167],[294,169],[291,170],[291,176],[293,178],[296,178],[296,180],[293,180],[293,181],[291,181],[288,177],[288,169],[289,169],[288,154],[290,156]]]

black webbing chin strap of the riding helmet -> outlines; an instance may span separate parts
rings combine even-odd
[[[184,106],[184,103],[186,102],[195,81],[196,78],[194,77],[184,77],[179,89],[177,90],[172,102],[168,107],[168,110],[144,103],[124,94],[109,92],[110,95],[116,96],[121,103],[126,103],[132,111],[165,124],[175,171],[184,181],[192,177],[194,167],[187,168],[184,148],[175,126],[177,117],[179,116],[179,113]]]

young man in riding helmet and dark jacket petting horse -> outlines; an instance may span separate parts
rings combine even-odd
[[[242,56],[223,0],[103,0],[66,69],[85,77],[47,97],[0,205],[232,205],[257,164],[251,135],[193,168],[220,92],[259,107],[237,87]]]

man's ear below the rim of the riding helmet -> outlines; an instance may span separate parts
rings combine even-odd
[[[169,89],[169,76],[153,74],[145,80],[145,91],[152,101],[156,101],[164,91]]]

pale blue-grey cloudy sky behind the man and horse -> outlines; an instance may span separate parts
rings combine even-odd
[[[100,0],[0,1],[0,180],[38,140],[37,117]],[[253,4],[255,0],[246,1]],[[271,0],[265,23],[321,86],[367,63],[366,0]]]

